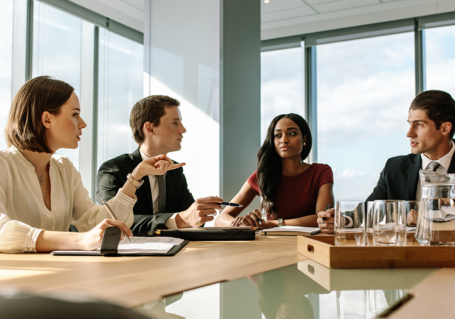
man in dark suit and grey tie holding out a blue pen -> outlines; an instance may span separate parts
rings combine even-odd
[[[194,200],[188,190],[183,168],[164,176],[134,178],[134,168],[143,160],[180,150],[185,127],[181,123],[180,103],[167,96],[150,96],[136,103],[129,124],[139,148],[103,163],[98,170],[98,203],[109,200],[130,181],[138,190],[134,204],[135,236],[151,235],[156,229],[199,227],[212,220],[222,199],[216,196]],[[142,186],[142,187],[141,187]]]

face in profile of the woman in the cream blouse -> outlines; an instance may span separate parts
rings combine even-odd
[[[58,115],[48,113],[48,118],[44,119],[48,143],[54,152],[62,148],[77,148],[82,128],[87,126],[79,113],[79,99],[73,92],[68,101],[60,108]]]

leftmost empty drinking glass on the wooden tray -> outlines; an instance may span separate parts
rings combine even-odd
[[[335,203],[335,245],[365,246],[365,207],[361,201]]]

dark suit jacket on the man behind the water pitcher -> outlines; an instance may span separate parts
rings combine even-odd
[[[376,199],[416,200],[421,166],[422,158],[420,154],[389,158],[379,176],[378,184],[365,201],[365,204]],[[455,156],[452,156],[447,173],[455,173]]]

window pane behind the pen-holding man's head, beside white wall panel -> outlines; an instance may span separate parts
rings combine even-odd
[[[129,112],[143,97],[144,45],[100,28],[98,82],[98,163],[138,145],[132,139]]]

